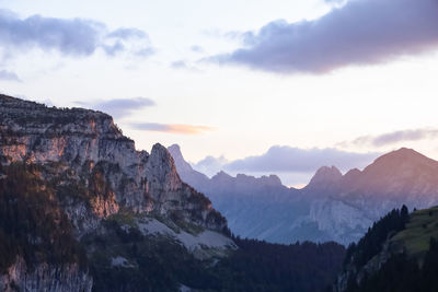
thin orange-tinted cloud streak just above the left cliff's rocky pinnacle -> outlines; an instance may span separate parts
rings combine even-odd
[[[214,128],[208,126],[184,125],[184,124],[139,122],[139,124],[131,124],[130,126],[137,130],[180,133],[180,135],[199,135],[214,130]]]

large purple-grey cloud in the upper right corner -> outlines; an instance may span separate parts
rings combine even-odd
[[[312,21],[241,34],[244,47],[207,58],[279,73],[324,73],[438,47],[437,0],[351,0]]]

